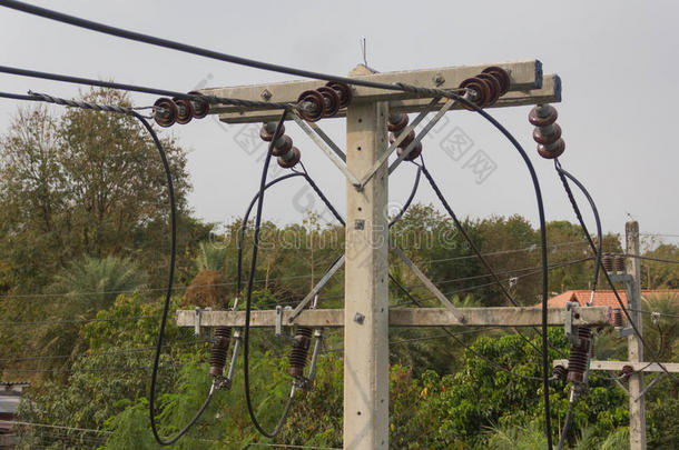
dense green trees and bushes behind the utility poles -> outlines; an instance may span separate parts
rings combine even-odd
[[[91,101],[126,103],[124,96],[92,91]],[[179,430],[209,388],[209,343],[178,329],[176,309],[224,308],[236,288],[236,243],[243,222],[220,232],[191,217],[186,154],[165,139],[179,204],[178,281],[167,346],[160,360],[158,420],[161,434]],[[157,448],[148,422],[148,388],[168,266],[167,192],[156,149],[134,119],[92,111],[22,110],[0,139],[0,358],[2,381],[30,380],[19,419],[21,448]],[[513,216],[464,220],[518,302],[540,301],[539,230]],[[245,247],[252,246],[252,227]],[[587,289],[593,262],[580,228],[548,224],[550,291]],[[506,301],[453,222],[431,204],[414,204],[391,230],[397,243],[451,301],[464,307]],[[254,307],[295,304],[342,253],[344,229],[309,211],[302,223],[263,224],[254,273]],[[679,259],[676,246],[649,241],[647,254]],[[620,251],[607,234],[607,251]],[[245,272],[249,268],[245,252]],[[406,267],[390,272],[425,307],[437,301]],[[647,288],[677,288],[677,266],[642,262]],[[322,306],[340,308],[341,270],[324,288]],[[677,314],[672,297],[649,299],[644,309]],[[413,307],[390,286],[392,307]],[[662,360],[679,358],[672,316],[644,317],[648,342]],[[544,446],[539,337],[498,329],[450,328],[465,349],[439,329],[390,330],[390,427],[398,449],[533,449]],[[568,354],[561,329],[549,332],[551,358]],[[531,346],[532,344],[532,346]],[[252,390],[265,428],[274,427],[289,393],[289,341],[254,330]],[[599,358],[624,359],[624,342],[597,336]],[[243,393],[243,361],[230,391],[218,391],[181,449],[239,449],[250,443],[342,446],[342,333],[325,331],[313,389],[297,393],[275,440],[259,436]],[[482,358],[480,358],[481,356]],[[490,361],[490,362],[489,362]],[[512,373],[508,373],[512,372]],[[652,379],[655,376],[649,376]],[[550,388],[554,437],[570,386]],[[661,380],[648,393],[649,447],[679,448],[679,386]],[[601,372],[575,406],[568,436],[572,450],[624,448],[628,398]],[[58,426],[66,428],[50,428]],[[622,442],[622,443],[621,443]],[[622,446],[622,447],[621,447]]]

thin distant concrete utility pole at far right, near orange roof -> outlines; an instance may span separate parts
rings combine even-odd
[[[640,254],[639,223],[630,221],[624,224],[626,252],[628,254]],[[631,319],[634,321],[639,334],[643,332],[643,320],[641,319],[641,261],[638,258],[627,258],[624,270],[631,278],[631,298],[628,298],[628,307]],[[627,338],[628,360],[630,362],[643,361],[643,344],[637,333]],[[643,396],[643,371],[634,372],[629,380],[630,397],[630,450],[646,450],[646,400]]]

